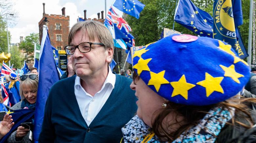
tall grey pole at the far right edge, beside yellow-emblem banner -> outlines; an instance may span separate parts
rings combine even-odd
[[[250,16],[249,16],[249,38],[248,38],[248,58],[247,63],[251,68],[251,43],[252,43],[252,0],[250,0]]]

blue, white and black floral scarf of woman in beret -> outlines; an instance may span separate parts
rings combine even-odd
[[[200,120],[197,126],[190,128],[187,132],[183,132],[172,143],[181,142],[214,142],[215,136],[218,136],[225,123],[234,115],[228,110],[222,110],[215,107]],[[136,115],[123,128],[123,140],[125,143],[140,143],[150,134],[150,127],[146,125],[142,119]],[[159,143],[159,139],[154,135],[147,143]]]

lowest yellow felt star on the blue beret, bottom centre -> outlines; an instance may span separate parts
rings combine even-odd
[[[173,87],[172,97],[181,95],[186,100],[188,99],[188,90],[195,87],[196,85],[187,83],[185,74],[183,74],[179,81],[170,82]]]

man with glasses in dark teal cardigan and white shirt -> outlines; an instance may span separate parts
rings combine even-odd
[[[65,47],[76,75],[53,85],[39,142],[120,142],[135,115],[132,80],[111,72],[113,38],[100,22],[76,23]]]

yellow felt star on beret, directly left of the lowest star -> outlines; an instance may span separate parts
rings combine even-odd
[[[156,88],[157,92],[159,91],[160,86],[162,84],[169,84],[169,81],[164,78],[164,73],[165,73],[165,70],[161,71],[159,73],[155,73],[155,72],[150,71],[150,77],[151,78],[148,81],[148,85],[149,86],[153,85]]]

